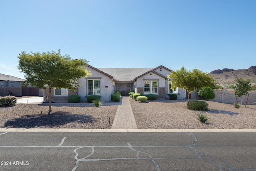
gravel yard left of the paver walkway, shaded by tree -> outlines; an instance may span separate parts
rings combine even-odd
[[[0,107],[0,128],[111,128],[118,104],[94,107],[92,103],[16,104]],[[42,113],[41,113],[42,111]]]

